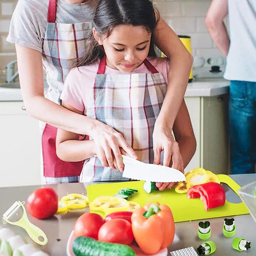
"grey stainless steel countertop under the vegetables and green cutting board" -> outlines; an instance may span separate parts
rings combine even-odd
[[[230,175],[241,187],[256,180],[256,174],[243,174],[243,175]],[[86,193],[86,187],[92,183],[71,183],[71,184],[54,184],[49,187],[54,188],[59,198],[67,193]],[[2,215],[16,200],[26,201],[29,194],[32,193],[38,186],[24,186],[24,187],[10,187],[0,188],[1,204],[0,214]],[[226,199],[230,202],[240,202],[239,197],[228,191],[226,193]],[[87,208],[87,211],[89,209]],[[189,212],[188,212],[189,214]],[[81,215],[79,212],[68,212],[65,215],[56,215],[48,220],[36,220],[29,216],[29,220],[41,228],[48,237],[48,244],[40,246],[34,243],[27,235],[26,231],[20,227],[16,227],[6,223],[1,225],[11,228],[17,235],[21,235],[28,243],[34,244],[45,252],[48,252],[51,256],[66,255],[66,245],[70,232],[73,229],[76,219]],[[231,218],[231,217],[229,217]],[[235,256],[235,255],[256,255],[256,223],[252,219],[250,214],[233,216],[236,224],[236,234],[234,237],[241,237],[251,242],[251,249],[247,252],[239,252],[232,248],[232,240],[234,237],[226,238],[222,233],[223,220],[222,218],[208,219],[211,223],[212,235],[210,241],[215,242],[217,249],[213,253],[214,256]],[[200,220],[179,222],[175,224],[175,237],[168,251],[174,251],[185,247],[193,246],[195,249],[204,242],[197,236],[198,222]],[[205,220],[204,220],[205,221]],[[240,254],[241,253],[241,254]],[[169,254],[170,255],[170,254]],[[121,256],[121,255],[120,255]]]

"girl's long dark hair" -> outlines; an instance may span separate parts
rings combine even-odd
[[[153,34],[158,17],[157,10],[149,0],[100,0],[94,12],[93,27],[105,38],[117,25],[143,26]],[[148,56],[156,56],[152,41],[151,35]],[[98,44],[91,32],[85,41],[84,53],[76,60],[72,68],[89,65],[100,60],[104,55],[102,45]]]

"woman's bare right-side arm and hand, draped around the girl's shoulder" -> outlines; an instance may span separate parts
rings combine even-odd
[[[154,40],[156,46],[170,59],[167,92],[153,133],[154,163],[160,163],[160,153],[164,150],[163,164],[169,166],[175,141],[171,131],[187,88],[193,57],[162,18],[158,21]],[[172,160],[174,168],[179,166],[175,157]]]

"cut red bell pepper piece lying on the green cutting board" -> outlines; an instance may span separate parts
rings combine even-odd
[[[219,183],[208,182],[188,189],[188,198],[198,198],[204,203],[205,211],[225,204],[225,190]]]

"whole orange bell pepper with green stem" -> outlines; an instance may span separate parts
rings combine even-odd
[[[148,254],[172,244],[175,226],[171,209],[165,204],[146,204],[132,213],[132,232],[140,249]]]

